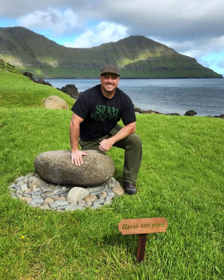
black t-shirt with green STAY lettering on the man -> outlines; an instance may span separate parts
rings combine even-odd
[[[101,84],[84,91],[71,110],[84,119],[80,124],[80,139],[94,141],[107,135],[122,119],[124,125],[136,121],[134,105],[123,91],[116,88],[111,99],[101,91]]]

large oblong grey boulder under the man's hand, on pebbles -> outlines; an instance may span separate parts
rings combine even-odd
[[[88,156],[82,156],[81,166],[71,163],[71,151],[39,154],[34,160],[36,173],[49,182],[76,186],[96,186],[113,176],[114,163],[110,156],[94,150],[83,152]]]

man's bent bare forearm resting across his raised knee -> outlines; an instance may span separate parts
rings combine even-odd
[[[114,143],[128,137],[129,135],[133,134],[135,131],[136,131],[136,122],[125,125],[113,137],[108,139],[103,139],[101,142],[99,142],[100,144],[99,150],[102,152],[108,152]]]

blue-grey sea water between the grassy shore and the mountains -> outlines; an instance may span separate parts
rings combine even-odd
[[[99,84],[99,79],[44,80],[55,88],[74,84],[79,92]],[[224,114],[224,79],[120,79],[118,87],[142,110],[181,115],[194,110],[197,116]]]

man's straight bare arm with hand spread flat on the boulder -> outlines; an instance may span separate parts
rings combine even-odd
[[[70,121],[70,145],[71,145],[71,161],[72,164],[75,163],[76,166],[80,166],[83,163],[82,155],[88,155],[85,152],[79,151],[79,131],[80,123],[84,119],[73,113]]]

